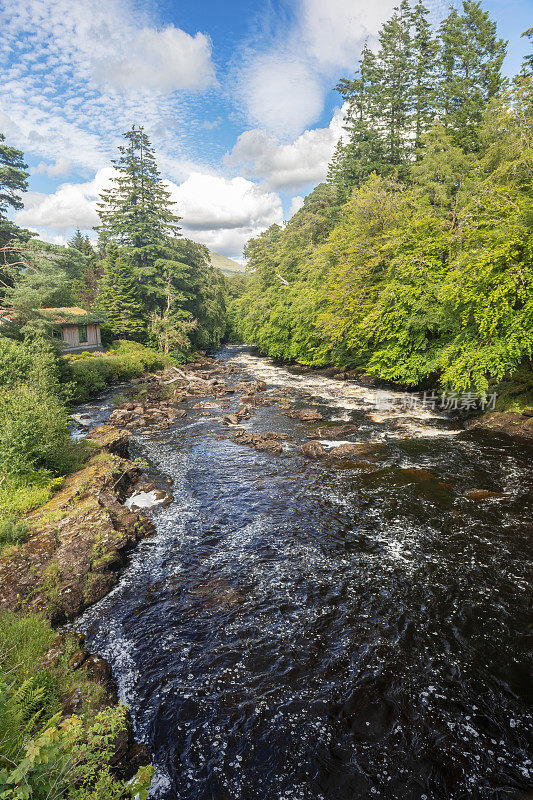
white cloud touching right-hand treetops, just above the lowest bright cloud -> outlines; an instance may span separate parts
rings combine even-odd
[[[305,131],[290,144],[280,144],[265,130],[245,131],[224,157],[224,163],[238,167],[248,178],[262,177],[271,189],[297,189],[319,183],[327,175],[342,135],[343,118],[344,109],[337,109],[327,128]]]

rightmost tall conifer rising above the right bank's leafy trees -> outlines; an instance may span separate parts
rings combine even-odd
[[[440,114],[455,144],[479,150],[479,126],[490,99],[502,87],[501,67],[507,43],[479,2],[463,0],[440,27],[442,62]]]

